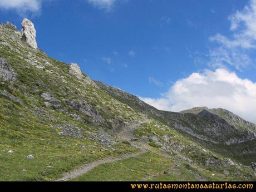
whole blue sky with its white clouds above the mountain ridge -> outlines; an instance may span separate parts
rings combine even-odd
[[[49,56],[158,109],[256,122],[255,0],[0,0],[0,11],[31,19]]]

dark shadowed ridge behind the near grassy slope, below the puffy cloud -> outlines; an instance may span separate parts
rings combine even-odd
[[[97,85],[115,99],[174,127],[212,150],[238,156],[256,153],[254,147],[256,146],[255,131],[250,131],[248,128],[239,130],[218,115],[206,110],[206,107],[196,107],[188,110],[190,112],[182,111],[180,113],[160,111],[147,105],[138,97],[115,87],[107,86],[101,82],[97,82]],[[252,159],[249,158],[248,160],[255,160],[255,155],[252,155]]]

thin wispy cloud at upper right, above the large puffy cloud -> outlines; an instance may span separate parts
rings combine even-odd
[[[256,48],[256,0],[251,0],[242,11],[230,16],[229,21],[232,38],[220,34],[210,37],[210,41],[218,46],[210,49],[209,65],[233,66],[242,70],[252,63],[248,50]]]

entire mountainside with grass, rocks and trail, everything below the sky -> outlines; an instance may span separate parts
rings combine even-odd
[[[0,24],[0,180],[256,180],[254,124],[223,109],[157,110],[35,38],[27,19],[22,31]]]

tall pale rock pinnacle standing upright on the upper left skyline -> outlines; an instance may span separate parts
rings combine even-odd
[[[29,21],[27,18],[24,18],[21,23],[22,29],[21,34],[24,41],[28,43],[29,46],[37,49],[36,42],[36,29],[34,24]]]

